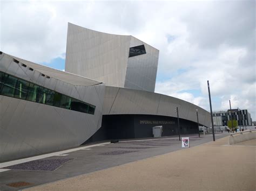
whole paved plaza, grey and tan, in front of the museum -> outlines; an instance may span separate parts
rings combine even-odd
[[[254,190],[255,141],[228,146],[226,135],[216,142],[194,135],[191,148],[183,149],[177,137],[82,147],[39,159],[53,163],[42,169],[29,169],[35,161],[12,165],[0,173],[0,189]],[[29,185],[8,186],[19,182]]]

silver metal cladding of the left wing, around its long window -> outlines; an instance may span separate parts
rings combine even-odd
[[[91,81],[89,86],[82,86],[82,78],[79,85],[52,76],[48,79],[36,70],[36,64],[33,71],[28,69],[30,66],[21,66],[21,62],[14,62],[8,54],[0,55],[2,72],[96,105],[95,115],[0,95],[0,161],[78,146],[102,123],[105,84]],[[53,72],[48,67],[44,70]],[[67,75],[65,72],[58,75],[61,73]],[[76,77],[73,75],[73,79]],[[69,80],[73,81],[72,76]],[[84,80],[85,84],[89,81]]]

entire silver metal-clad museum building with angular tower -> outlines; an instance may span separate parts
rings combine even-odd
[[[197,133],[210,113],[154,93],[158,49],[68,24],[65,72],[0,52],[0,161],[107,139]]]

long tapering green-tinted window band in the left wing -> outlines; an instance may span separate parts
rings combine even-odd
[[[0,95],[94,115],[95,106],[0,72]]]

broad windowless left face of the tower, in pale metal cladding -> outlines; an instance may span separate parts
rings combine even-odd
[[[124,87],[130,39],[69,23],[65,71]]]

